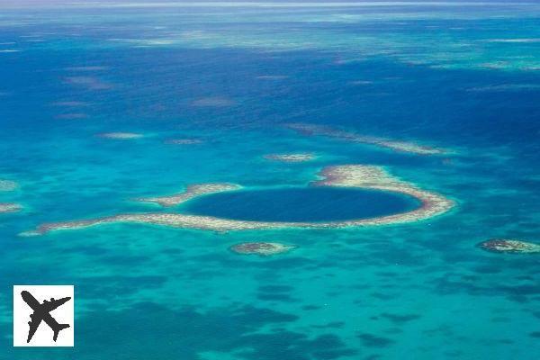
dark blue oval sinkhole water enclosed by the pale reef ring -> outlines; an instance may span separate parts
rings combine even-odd
[[[231,220],[358,220],[411,211],[419,200],[401,193],[343,187],[293,187],[213,193],[186,202],[184,213]]]

